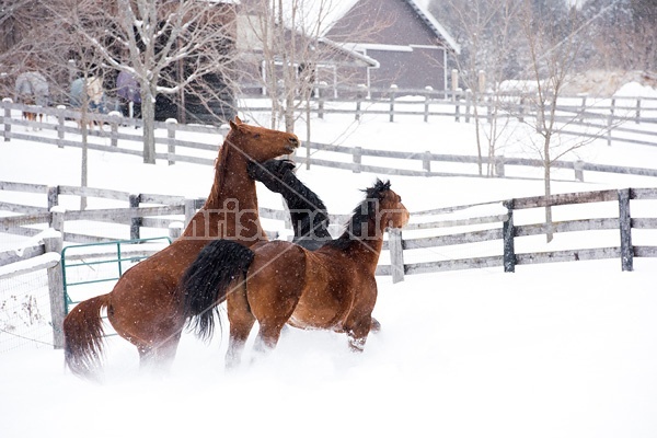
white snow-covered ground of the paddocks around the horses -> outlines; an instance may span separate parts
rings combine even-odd
[[[297,131],[303,138],[302,124]],[[356,125],[335,117],[315,122],[313,132],[315,141],[371,149],[475,153],[472,126],[447,119],[390,124],[366,117]],[[511,143],[521,153],[523,138]],[[78,149],[12,140],[0,143],[0,153],[1,181],[79,185]],[[657,163],[655,148],[608,147],[604,140],[577,153],[591,162]],[[209,168],[140,161],[91,152],[89,185],[209,192]],[[348,214],[361,188],[385,177],[318,166],[301,166],[298,175],[332,214]],[[543,189],[539,180],[391,182],[411,212]],[[654,178],[597,175],[586,183],[555,182],[553,192],[654,186]],[[262,206],[281,206],[264,187],[258,198]],[[0,239],[0,247],[24,243]],[[551,246],[543,242],[540,250]],[[140,374],[137,351],[112,338],[102,385],[65,371],[60,350],[4,353],[0,436],[655,437],[656,272],[657,260],[635,258],[632,273],[611,260],[518,266],[515,274],[424,274],[396,285],[381,277],[374,316],[383,328],[362,355],[348,353],[344,336],[289,330],[270,357],[234,373],[223,371],[227,335],[208,345],[183,336],[166,378]]]

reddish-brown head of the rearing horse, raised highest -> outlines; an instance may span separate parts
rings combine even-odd
[[[293,134],[246,125],[239,117],[230,122],[226,142],[257,162],[292,153],[299,147]]]

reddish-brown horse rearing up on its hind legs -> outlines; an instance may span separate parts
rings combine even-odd
[[[247,164],[289,154],[299,139],[245,125],[237,117],[230,127],[215,164],[210,194],[182,237],[128,269],[112,292],[82,301],[65,319],[65,358],[73,373],[93,378],[100,369],[103,308],[116,332],[139,350],[141,367],[169,369],[185,325],[177,285],[187,266],[218,238],[247,246],[266,240]]]

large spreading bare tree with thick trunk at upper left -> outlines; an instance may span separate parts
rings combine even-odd
[[[104,65],[140,85],[143,161],[155,162],[154,119],[159,94],[200,95],[204,80],[231,77],[234,4],[208,1],[116,0],[102,15],[72,23]],[[183,102],[184,104],[184,102]]]

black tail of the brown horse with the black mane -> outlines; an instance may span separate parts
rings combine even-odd
[[[254,253],[241,243],[215,240],[208,243],[189,265],[180,288],[184,291],[185,318],[189,327],[203,339],[212,337],[214,312],[226,300],[229,286],[245,277]]]

